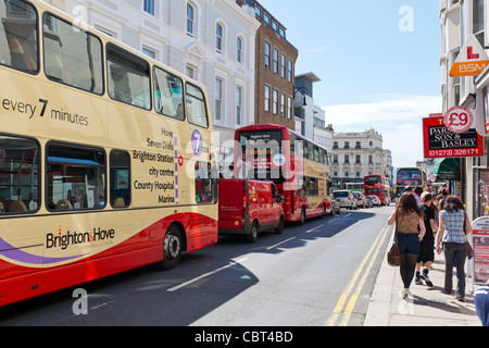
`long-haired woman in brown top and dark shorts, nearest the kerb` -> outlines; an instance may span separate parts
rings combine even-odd
[[[401,295],[403,299],[406,299],[412,297],[410,286],[416,269],[419,240],[423,239],[426,232],[423,211],[417,207],[413,194],[402,194],[399,198],[398,206],[387,223],[392,225],[394,222],[398,224],[398,244],[401,251],[400,271],[404,284]]]

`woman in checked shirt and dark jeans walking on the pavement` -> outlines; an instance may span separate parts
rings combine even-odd
[[[472,233],[471,221],[464,204],[455,196],[449,196],[440,212],[440,225],[437,235],[437,252],[441,253],[441,241],[444,252],[444,291],[452,294],[453,266],[456,268],[455,299],[465,298],[465,259],[467,258],[467,237]]]

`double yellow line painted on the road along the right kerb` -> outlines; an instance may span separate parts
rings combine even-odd
[[[365,258],[360,263],[359,268],[355,271],[355,274],[351,278],[350,283],[348,284],[346,290],[339,298],[338,302],[336,303],[335,309],[333,310],[333,315],[329,318],[329,320],[326,322],[326,326],[335,326],[337,321],[342,314],[341,321],[339,322],[339,326],[347,326],[348,322],[350,321],[350,316],[353,313],[353,308],[356,304],[356,300],[359,299],[360,291],[363,288],[363,285],[365,284],[365,281],[371,273],[372,266],[374,265],[375,260],[377,259],[378,252],[380,251],[380,246],[384,244],[384,240],[389,235],[389,225],[385,225],[384,228],[378,234],[377,238],[375,239],[371,250],[367,252]],[[368,262],[368,264],[367,264]],[[367,265],[366,265],[367,264]],[[365,268],[366,265],[366,268]],[[360,282],[356,284],[360,275],[363,274]],[[353,287],[356,284],[356,288],[353,291]],[[350,299],[347,303],[347,300]],[[347,303],[347,306],[344,306]]]

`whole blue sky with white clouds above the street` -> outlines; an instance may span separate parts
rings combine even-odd
[[[260,0],[299,50],[296,75],[313,72],[314,103],[336,133],[371,127],[393,166],[423,156],[423,117],[441,102],[437,0]]]

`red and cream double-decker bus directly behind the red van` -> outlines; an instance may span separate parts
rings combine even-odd
[[[237,129],[235,140],[235,177],[274,182],[284,195],[286,221],[304,223],[331,212],[325,148],[279,125]]]

